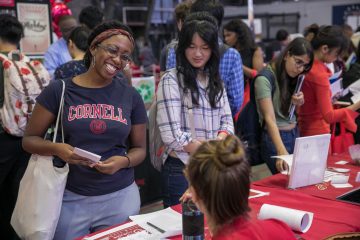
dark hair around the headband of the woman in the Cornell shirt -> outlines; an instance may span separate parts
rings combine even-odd
[[[97,35],[99,35],[102,32],[105,32],[106,30],[109,30],[109,29],[122,29],[122,30],[127,31],[130,35],[133,36],[133,32],[131,31],[131,29],[127,25],[122,24],[122,23],[120,23],[118,21],[108,21],[108,22],[104,22],[104,23],[98,25],[91,32],[91,34],[90,34],[90,36],[88,38],[88,45],[89,46],[91,45],[92,41],[96,38]],[[85,62],[85,66],[87,68],[90,67],[91,60],[92,60],[92,55],[91,55],[90,49],[88,48],[86,50],[86,53],[85,53],[85,56],[84,56],[84,62]]]

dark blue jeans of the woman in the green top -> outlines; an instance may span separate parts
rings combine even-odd
[[[280,130],[280,137],[288,153],[292,154],[294,152],[295,139],[299,137],[298,128],[295,127],[290,131]],[[271,156],[276,155],[277,151],[275,145],[268,132],[264,130],[261,139],[261,158],[264,159],[272,174],[278,173],[278,170],[276,169],[276,158],[271,158]]]

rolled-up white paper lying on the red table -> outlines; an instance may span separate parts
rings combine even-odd
[[[302,233],[307,232],[312,224],[314,213],[293,208],[263,204],[258,214],[258,219],[278,219],[285,222],[292,230]]]

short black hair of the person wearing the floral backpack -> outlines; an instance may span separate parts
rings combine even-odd
[[[16,17],[10,14],[0,15],[0,38],[3,41],[18,45],[24,37],[24,28]]]

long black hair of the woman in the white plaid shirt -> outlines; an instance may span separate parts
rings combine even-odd
[[[186,49],[191,45],[195,33],[199,34],[211,49],[211,57],[205,65],[204,71],[208,73],[209,83],[207,86],[207,95],[212,108],[222,97],[224,87],[220,80],[219,74],[219,43],[216,27],[216,19],[206,13],[193,13],[202,15],[201,20],[192,20],[186,18],[185,23],[179,35],[179,43],[176,49],[176,68],[179,73],[183,74],[184,91],[190,90],[194,104],[198,104],[199,89],[196,83],[197,68],[194,68],[185,56]],[[205,20],[206,19],[206,20]]]

